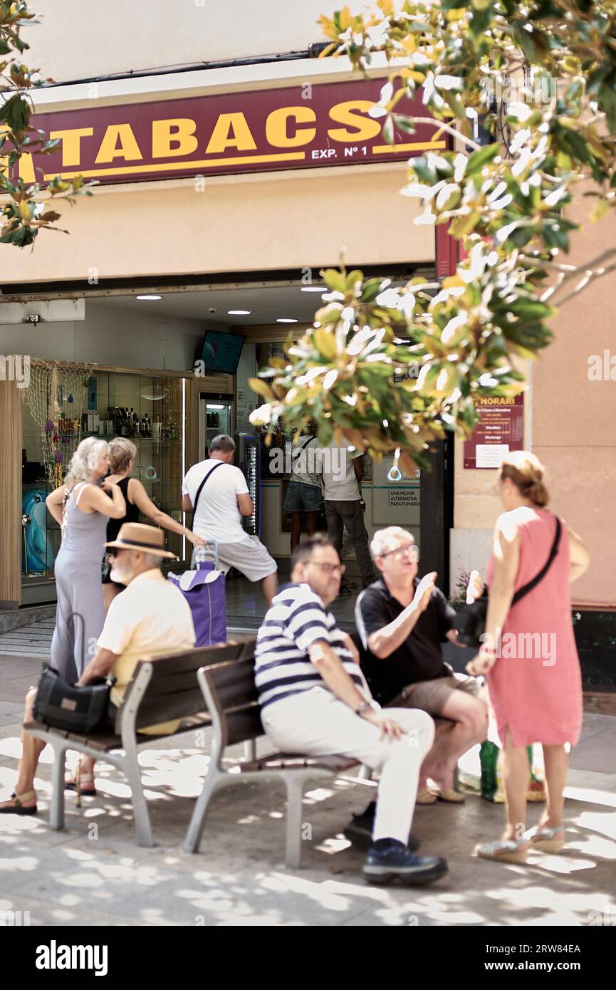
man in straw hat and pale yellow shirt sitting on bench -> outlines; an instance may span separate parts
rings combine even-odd
[[[163,656],[172,650],[190,649],[195,644],[195,632],[190,607],[179,588],[160,572],[165,557],[175,554],[163,547],[164,536],[154,526],[125,523],[117,540],[106,544],[111,563],[111,579],[125,584],[109,606],[103,631],[98,638],[94,657],[84,668],[77,684],[88,684],[97,677],[112,674],[116,683],[111,690],[109,718],[115,722],[115,711],[122,704],[124,692],[137,663],[144,656]],[[26,696],[24,722],[34,718],[37,694],[31,688]],[[141,730],[146,734],[172,733],[178,722],[163,723]],[[37,794],[34,790],[39,757],[45,746],[41,740],[22,732],[22,758],[19,763],[15,793],[0,804],[0,814],[36,815]],[[79,790],[96,794],[94,760],[82,756],[79,764]],[[75,790],[72,777],[66,781]]]

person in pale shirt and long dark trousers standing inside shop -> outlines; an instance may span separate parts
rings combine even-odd
[[[363,475],[363,459],[357,451],[346,446],[330,445],[323,451],[323,498],[327,535],[342,557],[345,528],[349,531],[358,558],[361,584],[364,588],[374,580],[372,558],[363,523],[363,502],[359,482]],[[343,580],[341,594],[350,594],[351,587]]]

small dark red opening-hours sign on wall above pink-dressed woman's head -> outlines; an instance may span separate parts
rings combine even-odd
[[[481,419],[464,441],[464,467],[500,467],[512,450],[524,449],[524,395],[475,400]]]

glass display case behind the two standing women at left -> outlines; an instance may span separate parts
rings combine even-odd
[[[84,396],[79,404],[75,396],[55,386],[56,416],[44,424],[24,405],[21,525],[25,586],[51,578],[60,532],[47,512],[45,499],[61,483],[72,451],[85,437],[131,440],[137,447],[133,476],[144,484],[162,512],[182,522],[186,378],[95,370],[84,376],[82,386]],[[78,409],[80,418],[71,418]],[[72,424],[70,430],[65,424]],[[141,521],[152,525],[149,519]],[[190,546],[177,534],[165,531],[165,545],[180,560],[190,555]]]

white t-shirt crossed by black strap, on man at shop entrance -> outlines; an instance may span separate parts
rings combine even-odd
[[[217,464],[222,466],[217,467]],[[204,540],[237,544],[246,536],[238,508],[238,495],[249,494],[246,478],[239,467],[226,464],[216,457],[201,460],[187,472],[182,494],[189,496],[194,509],[199,485],[212,470],[214,474],[205,482],[199,496],[193,516],[193,531]]]

